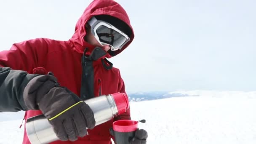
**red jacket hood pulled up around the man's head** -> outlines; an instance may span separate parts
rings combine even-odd
[[[83,53],[85,48],[88,48],[88,52],[90,53],[95,48],[93,45],[87,43],[84,40],[86,35],[85,24],[86,22],[91,19],[93,16],[97,15],[109,15],[116,17],[122,21],[124,21],[130,28],[131,28],[131,36],[130,41],[126,43],[122,49],[114,51],[111,55],[107,57],[110,58],[121,53],[127,46],[133,41],[134,33],[133,28],[131,27],[129,17],[123,7],[119,5],[117,2],[113,0],[93,0],[92,3],[88,5],[88,7],[83,12],[82,16],[78,19],[77,24],[75,26],[75,33],[70,39],[73,44],[75,51],[79,53]]]

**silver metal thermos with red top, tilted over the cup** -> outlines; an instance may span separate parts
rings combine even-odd
[[[85,103],[91,107],[96,125],[111,120],[113,117],[126,112],[130,107],[125,93],[98,96],[85,100]],[[31,144],[47,144],[59,140],[44,115],[27,119],[26,131]]]

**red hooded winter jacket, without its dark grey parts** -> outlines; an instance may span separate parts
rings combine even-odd
[[[90,55],[94,46],[85,42],[83,37],[86,34],[85,23],[96,15],[110,15],[124,21],[132,31],[130,41],[121,50],[115,51],[114,55],[106,54],[100,59],[93,61],[94,72],[94,96],[112,94],[116,92],[125,93],[125,85],[120,76],[119,69],[112,67],[106,69],[103,66],[105,58],[110,58],[122,52],[133,40],[134,34],[129,18],[125,10],[112,0],[94,0],[83,12],[77,21],[75,33],[70,40],[59,41],[47,38],[37,38],[21,43],[13,44],[10,51],[2,51],[0,55],[0,67],[11,67],[12,69],[24,70],[28,73],[53,72],[61,86],[80,96],[81,75],[83,68],[81,58],[85,48],[88,48],[86,55]],[[104,62],[102,62],[102,59]],[[42,112],[29,110],[25,114],[25,120],[29,117],[40,115]],[[130,119],[130,110],[125,114],[115,117],[114,120]],[[77,141],[54,141],[52,144],[111,144],[109,128],[112,127],[110,120],[107,123],[96,126],[93,130],[88,130],[88,135],[79,138]],[[26,130],[24,131],[23,144],[30,144]]]

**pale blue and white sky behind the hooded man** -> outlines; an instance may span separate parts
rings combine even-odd
[[[89,0],[0,1],[0,51],[37,37],[68,40]],[[255,0],[117,0],[133,43],[109,59],[126,91],[255,91]]]

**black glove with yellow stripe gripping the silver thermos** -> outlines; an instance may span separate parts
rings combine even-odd
[[[34,77],[24,89],[28,109],[40,109],[61,141],[75,141],[94,128],[91,108],[67,88],[60,87],[53,75]]]

